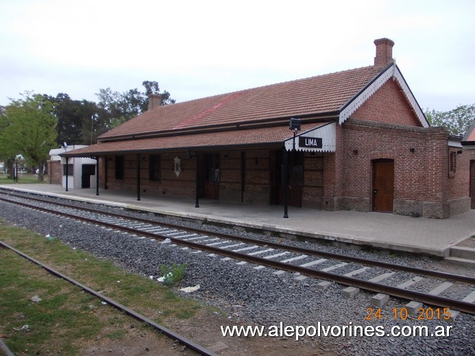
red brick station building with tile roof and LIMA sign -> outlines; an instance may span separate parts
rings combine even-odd
[[[96,157],[99,186],[137,199],[430,218],[467,211],[461,138],[430,127],[393,61],[394,42],[374,43],[372,66],[165,106],[152,95],[147,112],[62,156]]]

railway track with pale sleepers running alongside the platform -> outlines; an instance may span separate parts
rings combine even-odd
[[[239,264],[256,264],[256,269],[264,266],[275,268],[276,274],[282,271],[293,272],[299,279],[314,277],[369,292],[475,314],[473,277],[157,223],[151,219],[111,214],[90,207],[77,207],[32,196],[3,194],[0,199],[47,214],[127,232],[136,238],[167,240],[177,248],[206,251],[210,255],[221,256],[221,259],[239,260]],[[388,282],[391,281],[399,282],[390,285]]]

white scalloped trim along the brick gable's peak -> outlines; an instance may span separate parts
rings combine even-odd
[[[409,101],[409,105],[411,105],[412,109],[414,110],[415,115],[419,119],[419,122],[422,124],[423,127],[429,127],[429,124],[424,116],[424,112],[420,109],[415,97],[413,96],[409,86],[407,86],[404,77],[395,63],[386,69],[375,81],[372,82],[363,92],[358,94],[356,97],[353,97],[347,106],[340,112],[339,116],[339,124],[343,124],[369,97],[371,97],[376,90],[381,88],[383,84],[386,83],[390,78],[393,78],[398,81],[402,91],[406,95],[406,98]]]

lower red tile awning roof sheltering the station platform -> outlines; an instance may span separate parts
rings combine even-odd
[[[326,123],[302,125],[302,131],[307,131]],[[261,127],[260,129],[234,129],[232,131],[218,131],[195,133],[183,136],[166,136],[160,138],[143,138],[138,140],[100,142],[92,146],[70,151],[68,157],[90,157],[111,153],[141,153],[150,151],[186,151],[188,149],[214,147],[252,147],[252,145],[269,144],[282,147],[284,140],[292,138],[293,133],[288,126]]]

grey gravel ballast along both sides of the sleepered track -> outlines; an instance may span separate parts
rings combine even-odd
[[[71,202],[69,202],[71,203]],[[81,205],[82,203],[75,203]],[[87,204],[89,205],[89,204]],[[446,320],[406,320],[394,318],[408,301],[390,298],[389,302],[381,308],[381,318],[367,320],[369,309],[372,307],[373,294],[360,292],[354,298],[342,298],[341,290],[345,286],[332,283],[330,288],[319,290],[319,280],[306,278],[296,280],[289,272],[275,275],[271,268],[256,270],[254,264],[238,265],[234,260],[223,261],[223,257],[210,256],[208,253],[193,253],[191,249],[182,249],[180,246],[162,244],[158,240],[149,238],[136,238],[129,234],[119,233],[96,227],[89,224],[65,218],[58,218],[49,214],[24,209],[9,203],[0,203],[1,214],[10,225],[36,231],[43,235],[49,234],[59,238],[72,248],[82,249],[97,257],[109,258],[131,272],[136,272],[147,277],[160,277],[160,266],[165,264],[187,264],[186,275],[178,288],[199,284],[196,292],[186,294],[179,292],[187,298],[195,298],[206,302],[228,314],[230,320],[251,322],[254,325],[271,327],[280,323],[285,326],[334,327],[331,329],[335,336],[321,335],[313,337],[300,337],[308,347],[321,345],[328,342],[337,346],[337,351],[343,355],[475,355],[475,317],[460,314],[454,322]],[[118,209],[101,206],[101,209],[117,212]],[[143,214],[127,212],[130,215]],[[156,220],[169,220],[160,216],[147,215],[147,218]],[[173,220],[173,219],[171,219]],[[182,221],[183,225],[203,227],[191,221]],[[198,226],[199,225],[199,226]],[[267,240],[282,239],[272,238],[265,234],[246,233],[235,231],[226,227],[210,226],[220,232],[241,233],[252,238]],[[384,252],[342,250],[330,245],[308,244],[306,242],[289,242],[299,246],[311,246],[333,253],[358,255],[368,259],[388,260]],[[391,255],[390,262],[428,268],[437,262],[428,257],[413,257],[410,255]],[[158,282],[157,282],[158,283]],[[424,306],[426,307],[426,306]],[[336,328],[336,327],[340,328]],[[345,336],[341,335],[343,327]],[[350,336],[354,326],[384,327],[384,336]],[[426,336],[386,336],[393,327],[404,327],[404,332],[412,327],[428,327],[428,332],[433,333],[436,327],[450,328],[450,335],[445,337]],[[381,329],[380,329],[381,330]],[[399,329],[395,329],[398,331]],[[337,335],[337,336],[336,336]],[[295,338],[295,335],[283,335],[278,338]]]

